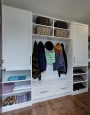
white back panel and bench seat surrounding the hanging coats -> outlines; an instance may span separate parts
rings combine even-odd
[[[61,82],[67,82],[67,81],[72,81],[72,56],[69,55],[70,53],[70,44],[71,42],[65,42],[65,41],[60,41],[60,40],[47,40],[47,39],[37,39],[34,38],[33,39],[33,43],[32,46],[34,45],[34,42],[37,41],[37,43],[39,43],[40,41],[42,41],[43,44],[45,44],[47,41],[51,41],[54,46],[57,43],[63,43],[64,44],[64,49],[67,55],[67,62],[68,62],[68,71],[67,74],[61,74],[61,76],[58,76],[58,71],[53,71],[53,64],[51,65],[47,65],[46,71],[44,71],[43,73],[41,73],[41,80],[37,79],[33,79],[32,78],[32,86],[41,86],[41,85],[48,85],[48,84],[55,84],[55,83],[61,83]],[[45,51],[47,51],[45,49]],[[54,51],[54,50],[53,50]],[[50,73],[50,74],[48,74]]]

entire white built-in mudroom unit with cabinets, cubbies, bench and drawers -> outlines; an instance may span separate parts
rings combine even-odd
[[[88,91],[88,26],[76,22],[69,22],[56,18],[46,17],[50,19],[50,26],[36,24],[38,14],[32,14],[30,11],[25,11],[9,6],[2,7],[2,45],[3,45],[3,85],[5,83],[14,83],[17,85],[30,84],[28,90],[12,92],[3,95],[3,100],[8,96],[25,95],[27,92],[31,94],[31,100],[24,103],[13,104],[3,107],[3,112],[15,110],[22,107],[27,107],[33,103],[45,101],[70,94],[79,94]],[[54,27],[57,21],[64,21],[68,28]],[[37,26],[43,26],[51,29],[50,36],[38,35],[35,33]],[[68,32],[68,37],[56,37],[55,30],[62,29]],[[61,75],[59,78],[58,72],[53,71],[53,65],[47,65],[45,72],[41,74],[41,81],[32,78],[32,51],[34,41],[46,41],[63,43],[67,55],[68,71],[67,74]],[[84,81],[73,82],[73,69],[80,68],[85,73],[81,73]],[[8,81],[9,76],[26,75],[25,80]],[[73,91],[74,83],[82,83],[85,86],[84,90]],[[3,101],[2,100],[2,101]]]

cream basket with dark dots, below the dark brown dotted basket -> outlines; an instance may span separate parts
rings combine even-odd
[[[36,26],[35,34],[50,36],[51,35],[51,29],[48,27],[43,27],[43,26]]]

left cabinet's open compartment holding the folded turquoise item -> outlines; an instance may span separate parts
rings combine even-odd
[[[2,83],[22,82],[22,81],[31,80],[30,70],[4,71],[2,75],[3,75]]]

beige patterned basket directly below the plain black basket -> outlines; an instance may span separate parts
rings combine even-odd
[[[68,31],[62,29],[55,29],[54,35],[56,37],[68,38]]]

